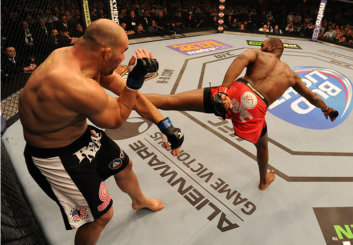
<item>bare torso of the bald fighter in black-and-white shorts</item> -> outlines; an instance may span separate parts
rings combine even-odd
[[[99,82],[99,78],[96,80]],[[19,116],[26,142],[39,148],[56,148],[79,138],[87,123],[86,116],[75,110],[74,93],[102,89],[97,81],[82,74],[73,47],[51,53],[20,94]]]

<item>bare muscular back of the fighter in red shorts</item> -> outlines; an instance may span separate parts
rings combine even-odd
[[[275,54],[262,52],[259,49],[251,51],[255,52],[257,57],[255,62],[247,67],[243,78],[260,91],[271,105],[288,87],[295,85],[298,77]]]

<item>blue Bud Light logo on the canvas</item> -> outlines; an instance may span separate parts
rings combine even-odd
[[[303,83],[316,93],[339,115],[335,121],[326,120],[319,108],[311,105],[292,87],[269,106],[269,112],[290,124],[307,129],[334,128],[347,118],[352,110],[352,83],[342,73],[323,67],[293,67]]]

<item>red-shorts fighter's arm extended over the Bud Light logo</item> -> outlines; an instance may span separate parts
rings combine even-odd
[[[307,86],[305,86],[300,76],[294,71],[293,76],[295,84],[292,86],[292,88],[296,90],[298,94],[307,99],[310,104],[316,106],[317,108],[320,108],[323,114],[325,115],[326,119],[330,116],[331,121],[334,121],[338,116],[337,110],[327,106],[326,103],[323,102],[323,100],[318,95],[316,95]]]

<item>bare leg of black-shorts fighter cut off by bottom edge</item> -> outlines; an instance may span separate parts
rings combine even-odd
[[[102,217],[94,222],[80,226],[75,235],[75,245],[93,245],[96,244],[104,227],[113,217],[113,206],[110,207]]]

